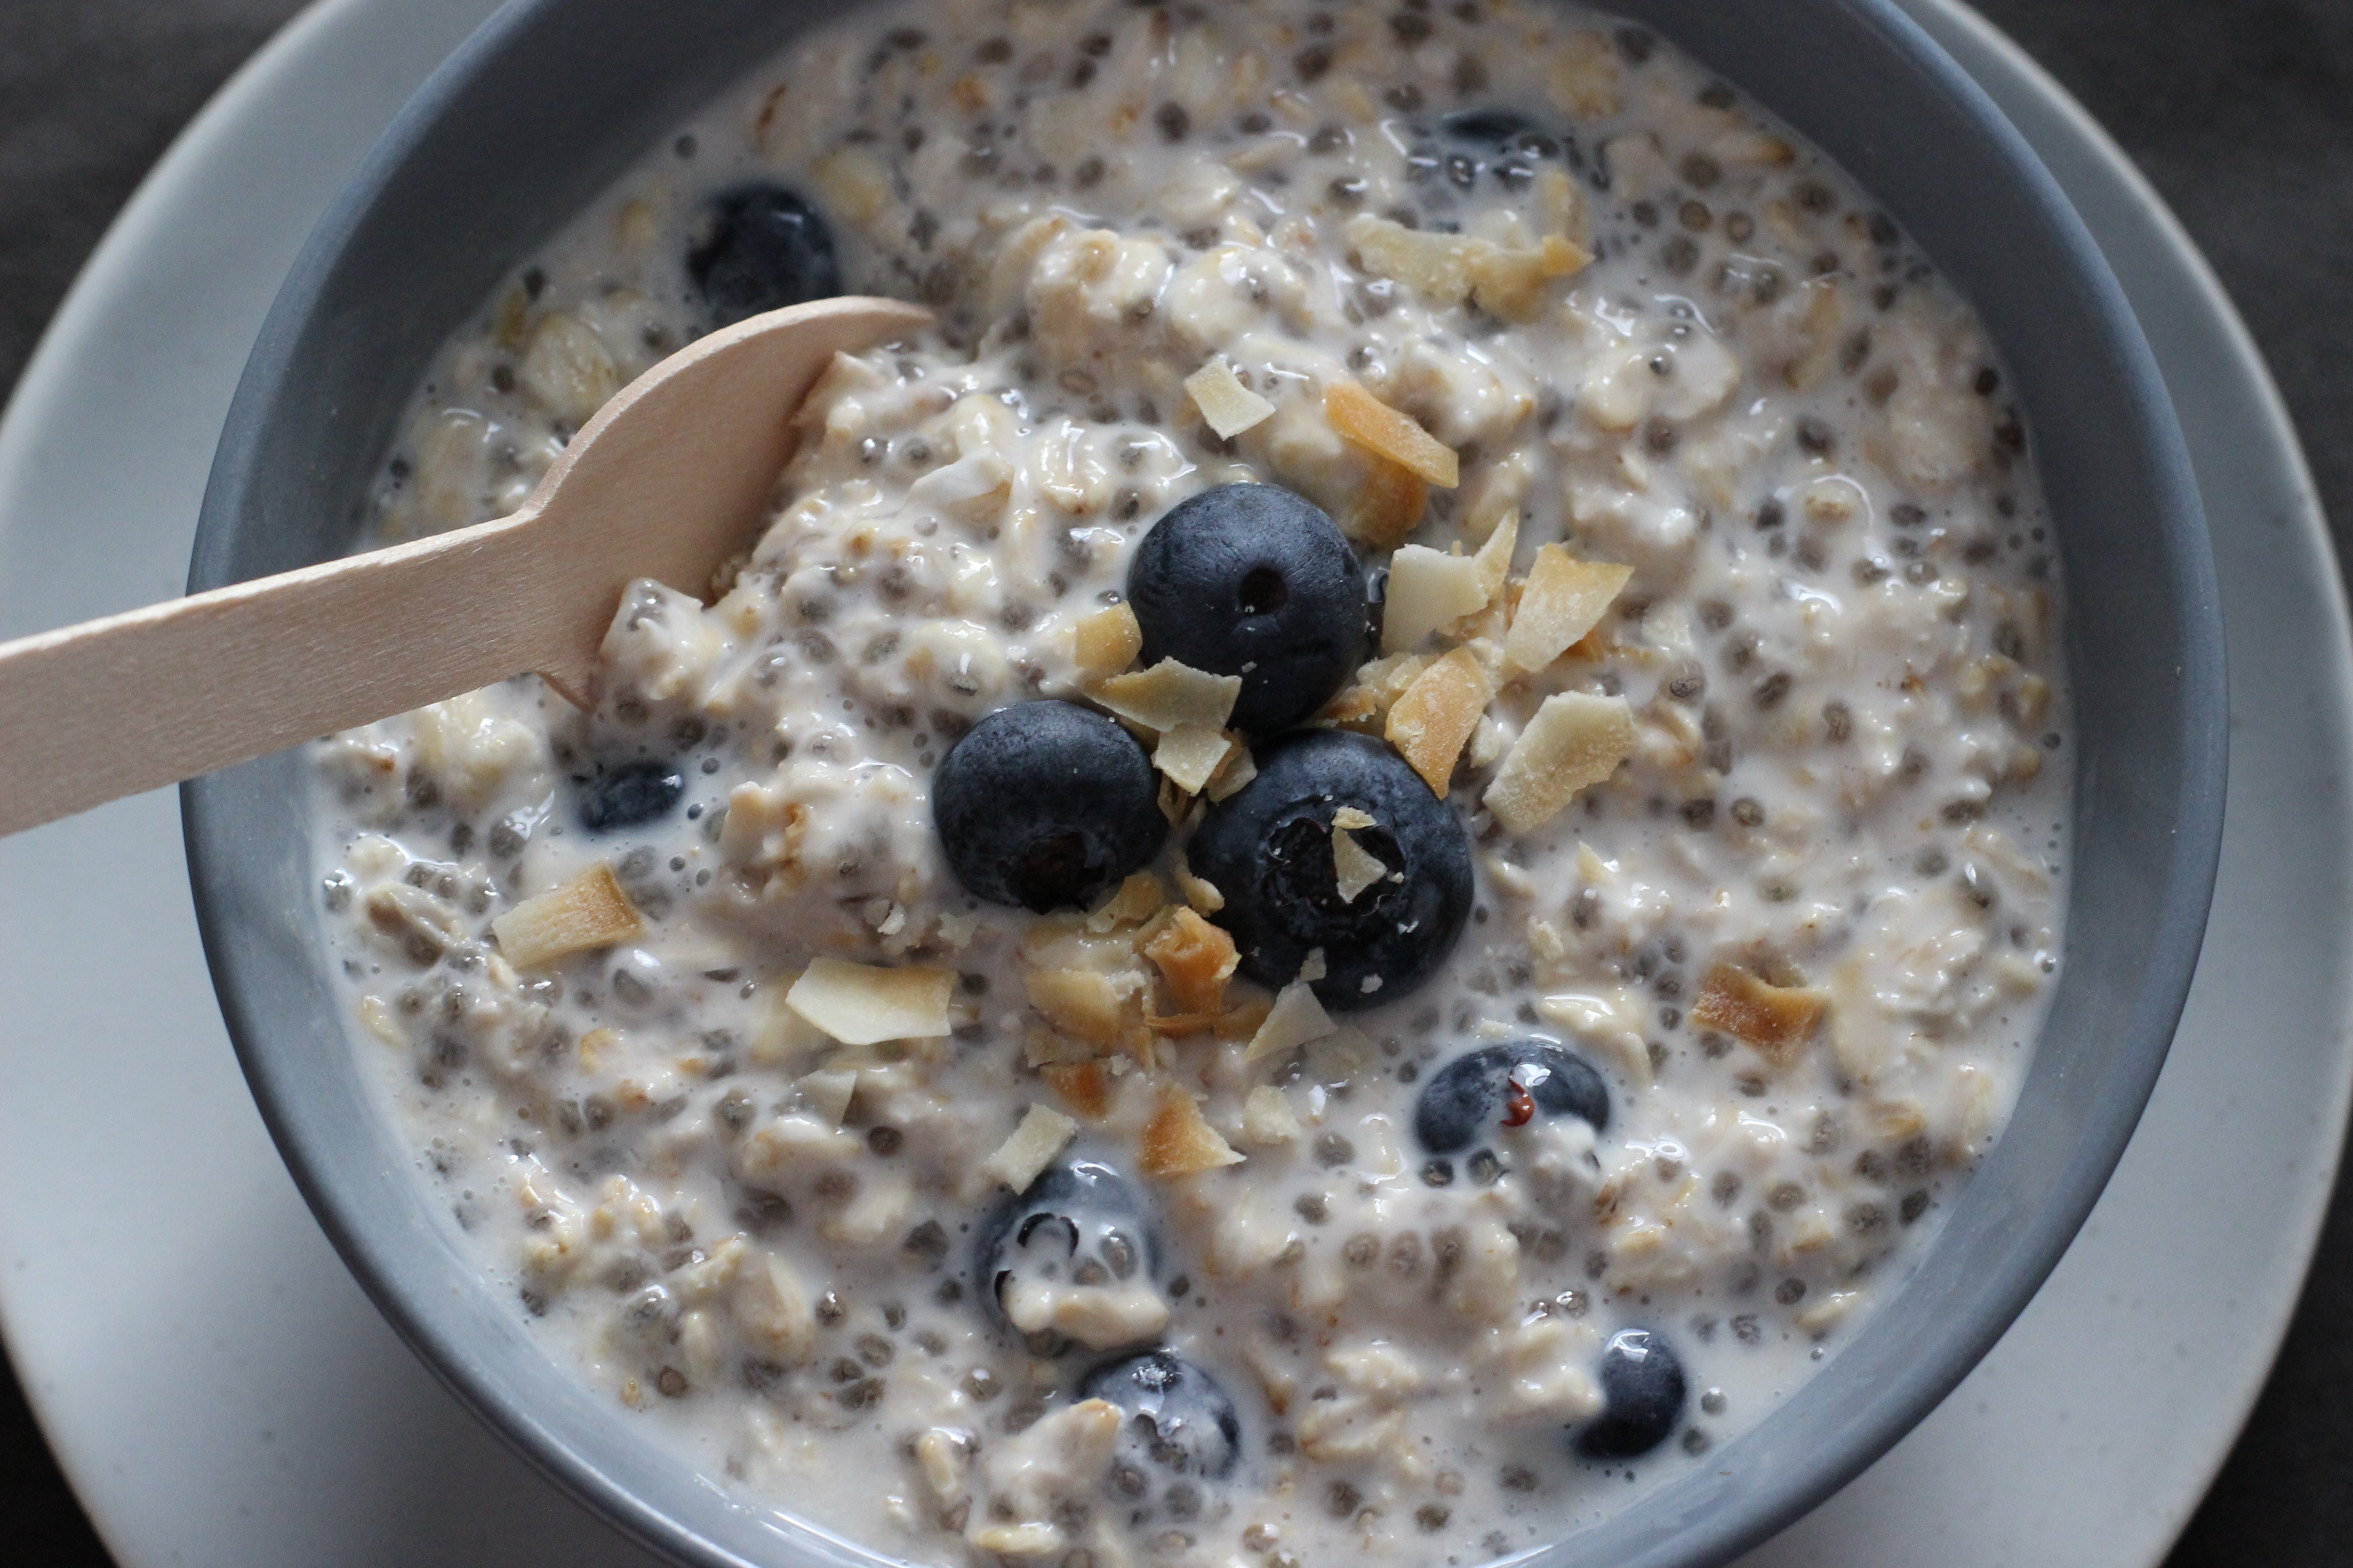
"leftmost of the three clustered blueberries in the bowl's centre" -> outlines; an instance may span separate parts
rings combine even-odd
[[[1021,703],[974,724],[932,773],[932,820],[958,882],[1035,914],[1094,903],[1169,832],[1151,757],[1075,703]]]

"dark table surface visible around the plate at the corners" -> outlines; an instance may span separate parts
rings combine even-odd
[[[299,0],[0,0],[0,388],[148,165]],[[2125,143],[2271,357],[2353,529],[2353,0],[1979,0]],[[14,1380],[0,1559],[104,1566]],[[2353,1180],[2169,1568],[2353,1561]]]

